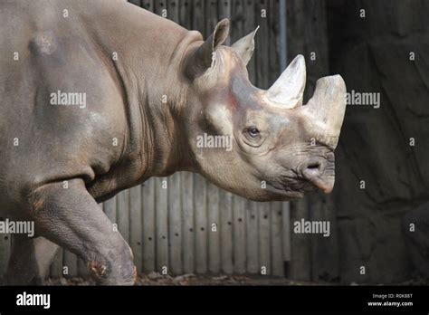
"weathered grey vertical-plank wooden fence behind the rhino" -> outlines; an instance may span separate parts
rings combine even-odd
[[[249,63],[253,84],[267,88],[280,74],[281,25],[278,0],[134,0],[129,1],[207,36],[217,21],[229,17],[231,41],[257,25],[256,48]],[[281,62],[284,64],[284,62]],[[290,260],[290,206],[255,203],[233,196],[187,172],[151,178],[101,205],[129,242],[138,272],[264,273],[284,275]],[[0,240],[0,274],[10,249]],[[52,276],[86,276],[80,259],[57,254]]]

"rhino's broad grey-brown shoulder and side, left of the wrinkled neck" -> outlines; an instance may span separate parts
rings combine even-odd
[[[42,9],[33,3],[6,2],[0,10],[5,22],[0,30],[4,202],[45,182],[91,181],[107,172],[121,154],[127,129],[119,81],[108,57],[76,21],[80,17],[62,17],[59,2],[46,2]],[[74,96],[85,105],[55,105],[59,100],[52,101],[52,93],[79,93]]]

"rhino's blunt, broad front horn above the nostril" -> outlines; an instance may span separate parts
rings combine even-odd
[[[346,83],[343,78],[340,75],[320,78],[313,97],[302,109],[315,122],[319,141],[336,148],[346,111]]]

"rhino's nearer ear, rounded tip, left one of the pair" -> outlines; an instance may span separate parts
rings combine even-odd
[[[229,20],[216,24],[215,31],[192,53],[186,62],[186,73],[190,77],[204,73],[212,65],[213,52],[224,43],[229,35]]]

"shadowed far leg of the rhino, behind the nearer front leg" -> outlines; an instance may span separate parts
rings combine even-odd
[[[59,246],[44,237],[29,238],[14,234],[12,253],[5,275],[6,285],[40,285]]]

